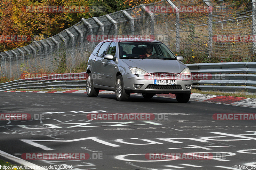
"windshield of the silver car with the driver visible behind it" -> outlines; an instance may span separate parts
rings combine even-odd
[[[177,60],[163,43],[159,42],[120,42],[120,59],[169,59]]]

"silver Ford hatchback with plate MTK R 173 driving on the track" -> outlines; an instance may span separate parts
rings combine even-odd
[[[146,99],[159,93],[173,93],[178,102],[190,98],[192,76],[164,43],[156,40],[109,39],[100,42],[89,57],[86,72],[87,95],[97,97],[99,90],[116,92],[126,101],[130,93]]]

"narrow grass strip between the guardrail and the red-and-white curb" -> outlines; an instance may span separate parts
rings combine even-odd
[[[77,89],[61,89],[61,88],[55,88],[55,89],[15,89],[18,91],[64,91],[64,90],[86,90],[86,88],[77,88]],[[192,89],[192,93],[201,93],[201,94],[212,94],[212,95],[221,95],[221,96],[235,96],[235,97],[244,97],[244,98],[252,98],[255,99],[256,95],[251,95],[246,92],[203,92],[201,90]]]

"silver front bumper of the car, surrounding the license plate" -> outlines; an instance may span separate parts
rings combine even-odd
[[[163,78],[162,78],[163,79]],[[164,78],[170,79],[170,78]],[[176,85],[155,85],[153,76],[143,76],[135,74],[124,74],[124,89],[127,92],[134,93],[190,93],[192,87],[192,78],[191,79],[182,79],[179,76],[172,77],[171,79],[176,79]],[[136,85],[140,85],[138,88]],[[189,85],[187,89],[186,86]]]

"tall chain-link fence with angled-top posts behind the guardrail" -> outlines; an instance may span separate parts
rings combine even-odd
[[[185,58],[240,56],[252,61],[256,52],[255,1],[235,6],[223,0],[162,0],[82,18],[53,37],[0,53],[0,77],[19,78],[21,68],[52,72],[63,59],[67,67],[75,68],[88,59],[98,42],[133,36],[162,41]]]

